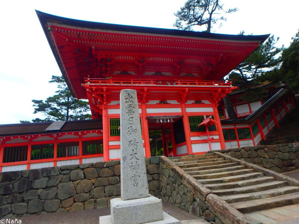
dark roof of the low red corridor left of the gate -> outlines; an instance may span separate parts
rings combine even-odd
[[[53,122],[36,122],[0,125],[0,136],[42,134],[46,133],[45,129],[52,123]],[[62,128],[55,132],[98,130],[102,129],[102,127],[101,119],[74,120],[66,121]]]

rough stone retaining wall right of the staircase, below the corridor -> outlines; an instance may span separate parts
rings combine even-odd
[[[245,146],[217,151],[277,173],[293,171],[299,168],[298,142],[279,145]],[[209,151],[208,153],[211,152],[215,151]]]

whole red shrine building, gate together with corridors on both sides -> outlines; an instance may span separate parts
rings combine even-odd
[[[119,159],[121,89],[137,90],[146,157],[151,155],[150,130],[162,132],[166,156],[256,145],[294,105],[292,95],[280,91],[275,101],[265,102],[266,111],[258,111],[263,102],[249,110],[248,120],[219,118],[220,99],[236,89],[219,80],[269,35],[135,27],[36,13],[71,93],[89,100],[93,119],[0,125],[1,171]],[[199,125],[209,118],[213,122]]]

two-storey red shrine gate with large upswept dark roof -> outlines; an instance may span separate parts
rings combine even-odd
[[[102,124],[101,136],[96,137],[102,148],[88,155],[99,161],[120,158],[121,89],[137,90],[146,157],[150,156],[149,130],[162,130],[165,155],[224,149],[217,106],[235,87],[230,82],[217,80],[269,36],[105,24],[39,11],[37,15],[69,89],[78,99],[89,100],[92,118]],[[213,125],[198,126],[210,116],[215,121]],[[170,134],[166,136],[165,130],[170,130]],[[62,134],[60,130],[58,133]],[[81,163],[88,156],[83,154],[84,137],[77,138],[78,150],[72,159]],[[68,160],[67,154],[57,157],[55,142],[59,139],[54,138],[51,165],[58,165],[57,160]],[[171,151],[167,150],[167,139],[172,141]],[[32,151],[27,152],[24,164],[32,161],[29,159]]]

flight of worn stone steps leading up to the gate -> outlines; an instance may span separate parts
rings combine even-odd
[[[219,155],[169,159],[243,214],[299,203],[299,187]]]

